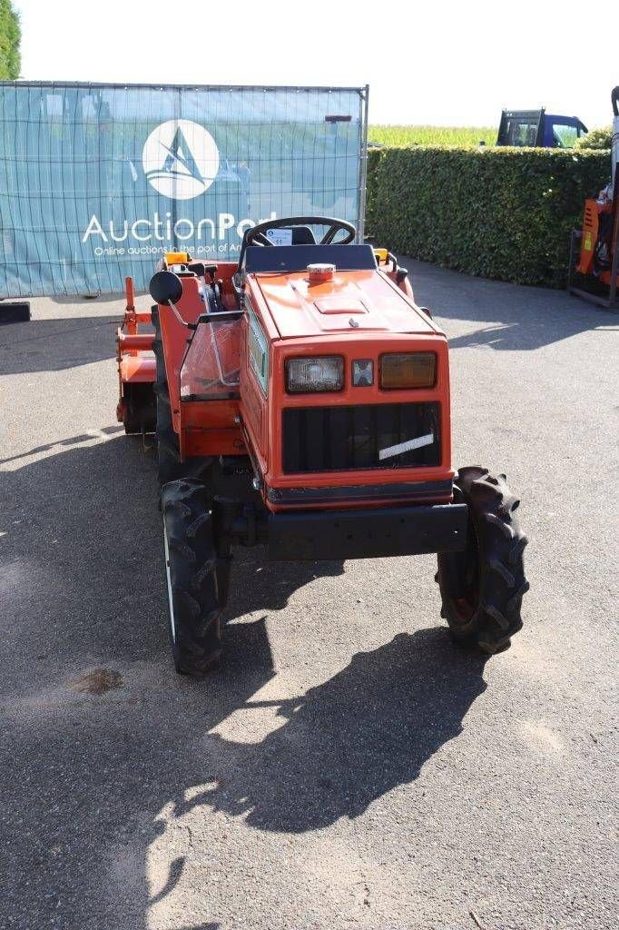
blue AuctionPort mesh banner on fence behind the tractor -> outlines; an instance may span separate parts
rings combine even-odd
[[[145,288],[263,220],[362,225],[365,88],[0,84],[0,297]],[[362,233],[362,230],[361,230]]]

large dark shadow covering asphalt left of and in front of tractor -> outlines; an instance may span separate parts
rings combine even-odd
[[[146,930],[151,908],[182,899],[192,859],[208,855],[165,845],[170,861],[153,885],[151,847],[168,830],[199,817],[208,837],[213,811],[289,834],[359,817],[461,733],[486,686],[484,661],[442,628],[402,632],[278,699],[268,615],[343,565],[270,565],[257,549],[233,568],[223,668],[204,681],[178,677],[151,457],[125,436],[82,438],[0,471],[10,786],[0,885],[14,889],[0,896],[0,917],[6,908],[16,923],[51,925],[61,901],[63,925]],[[299,661],[311,661],[311,623]],[[274,697],[262,700],[269,683]],[[246,711],[270,714],[257,742],[226,736],[230,717]],[[221,917],[209,909],[200,928],[215,930]]]

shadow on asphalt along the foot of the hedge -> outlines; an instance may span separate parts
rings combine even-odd
[[[510,285],[475,278],[407,259],[415,300],[444,325],[450,349],[484,347],[497,352],[532,351],[578,333],[617,325],[617,314],[564,290]],[[451,337],[450,321],[480,326]]]

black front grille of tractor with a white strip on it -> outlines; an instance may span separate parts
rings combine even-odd
[[[439,404],[288,407],[283,472],[400,469],[441,463]],[[432,434],[428,445],[380,458],[380,450]]]

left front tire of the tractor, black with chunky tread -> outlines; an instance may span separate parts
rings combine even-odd
[[[170,643],[178,672],[204,675],[221,657],[217,556],[208,493],[197,481],[162,489]]]

